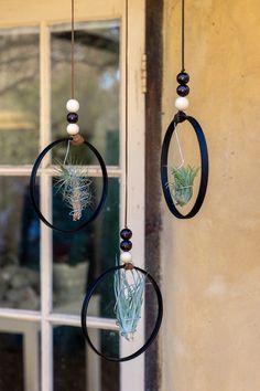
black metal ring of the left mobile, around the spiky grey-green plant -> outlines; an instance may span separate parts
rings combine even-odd
[[[99,162],[101,171],[102,171],[102,193],[101,193],[101,198],[100,198],[100,201],[99,201],[97,208],[95,209],[93,214],[89,216],[89,219],[87,219],[83,224],[78,225],[77,228],[75,228],[73,230],[64,230],[58,226],[55,226],[44,218],[44,215],[42,214],[42,212],[36,203],[36,198],[35,198],[36,175],[37,175],[39,167],[40,167],[44,156],[53,147],[55,147],[56,145],[58,145],[61,142],[68,141],[72,139],[73,139],[72,137],[59,138],[53,142],[51,142],[46,148],[44,148],[43,151],[39,155],[37,159],[34,162],[32,173],[31,173],[31,179],[30,179],[30,196],[31,196],[32,204],[33,204],[33,208],[34,208],[36,214],[42,220],[42,222],[44,222],[47,226],[50,226],[53,230],[64,232],[64,233],[73,233],[73,232],[79,231],[79,230],[84,229],[86,225],[88,225],[91,221],[94,221],[97,218],[97,215],[99,214],[100,210],[102,209],[104,203],[107,198],[107,192],[108,192],[108,176],[107,176],[107,169],[106,169],[106,165],[102,160],[102,157],[90,142],[84,140],[84,144],[94,152],[94,155],[98,159],[98,162]]]

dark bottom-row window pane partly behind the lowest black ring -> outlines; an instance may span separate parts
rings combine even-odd
[[[101,351],[107,355],[117,351],[115,331],[91,329],[90,332]],[[79,328],[54,327],[54,391],[94,390],[119,391],[119,364],[100,360],[85,344]]]

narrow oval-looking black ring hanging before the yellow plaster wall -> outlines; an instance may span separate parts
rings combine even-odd
[[[202,168],[201,168],[202,175],[201,175],[198,194],[192,210],[187,214],[182,214],[175,207],[172,199],[171,190],[169,188],[169,178],[167,178],[167,156],[169,156],[170,142],[177,124],[184,120],[187,120],[194,128],[194,131],[197,136],[197,141],[201,151],[201,160],[202,160]],[[203,129],[201,125],[197,123],[197,120],[191,116],[186,116],[184,113],[178,113],[177,115],[175,115],[172,123],[169,125],[169,128],[164,136],[163,145],[162,145],[162,154],[161,154],[161,181],[162,181],[163,194],[167,208],[170,209],[171,213],[174,214],[177,219],[191,219],[199,211],[206,194],[207,182],[208,182],[207,144],[206,144]]]

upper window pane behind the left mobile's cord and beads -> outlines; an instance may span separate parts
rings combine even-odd
[[[71,25],[52,29],[52,131],[66,137],[66,102],[71,98]],[[79,128],[107,165],[119,159],[119,27],[77,23],[75,97]],[[90,161],[93,163],[93,161]]]

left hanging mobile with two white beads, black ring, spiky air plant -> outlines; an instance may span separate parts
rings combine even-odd
[[[99,214],[100,210],[104,207],[107,190],[108,190],[108,177],[107,177],[107,169],[104,162],[104,159],[99,151],[88,141],[86,141],[83,136],[79,134],[79,127],[77,125],[78,121],[78,109],[79,103],[75,99],[75,72],[74,72],[74,0],[72,0],[72,98],[67,101],[66,108],[67,108],[67,133],[69,137],[59,138],[53,142],[51,142],[43,151],[39,155],[37,159],[34,162],[31,179],[30,179],[30,194],[33,208],[39,215],[39,218],[51,229],[57,230],[65,233],[73,233],[84,229],[88,225],[91,221],[94,221],[97,215]],[[55,183],[56,191],[62,194],[64,204],[71,210],[69,215],[72,216],[73,221],[79,221],[85,216],[82,224],[77,224],[74,229],[63,229],[61,226],[52,224],[41,212],[39,203],[36,201],[36,176],[40,165],[43,158],[50,152],[55,146],[67,144],[67,150],[64,157],[64,161],[58,163],[58,168],[55,170],[57,175],[57,180]],[[102,173],[102,191],[97,203],[97,207],[91,213],[87,212],[87,208],[93,205],[93,183],[91,180],[86,176],[84,172],[84,168],[77,165],[76,161],[69,156],[71,145],[86,146],[87,150],[90,150],[101,169]]]

